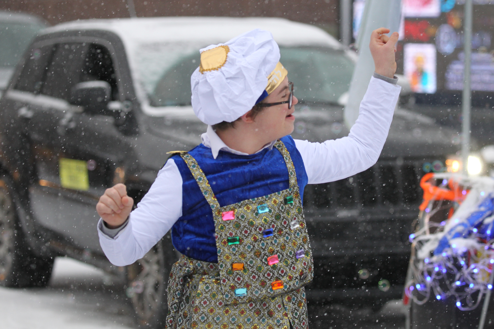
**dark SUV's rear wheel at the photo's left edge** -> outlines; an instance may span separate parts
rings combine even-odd
[[[10,183],[8,176],[0,176],[0,286],[45,287],[54,260],[34,254],[26,243]]]

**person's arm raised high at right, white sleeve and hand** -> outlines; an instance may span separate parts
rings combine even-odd
[[[295,140],[309,184],[352,176],[371,167],[379,158],[401,90],[400,86],[385,81],[392,81],[396,72],[398,33],[389,38],[384,33],[389,30],[380,28],[372,32],[369,46],[377,75],[371,78],[359,117],[348,136],[324,143]]]

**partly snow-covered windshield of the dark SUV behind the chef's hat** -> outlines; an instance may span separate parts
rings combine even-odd
[[[199,66],[197,45],[178,53],[167,45],[141,46],[138,77],[152,106],[191,105],[190,76]],[[174,51],[173,51],[174,50]],[[325,47],[280,47],[280,61],[302,103],[337,103],[348,90],[354,62],[344,51]]]

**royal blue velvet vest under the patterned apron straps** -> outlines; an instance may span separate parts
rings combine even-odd
[[[307,185],[307,173],[291,136],[281,138],[295,166],[300,197]],[[288,170],[281,153],[273,148],[251,155],[219,151],[213,158],[211,149],[200,144],[189,154],[206,174],[220,206],[262,197],[288,189]],[[173,246],[182,254],[207,262],[218,262],[214,220],[199,185],[179,155],[171,157],[182,175],[182,216],[171,228]]]

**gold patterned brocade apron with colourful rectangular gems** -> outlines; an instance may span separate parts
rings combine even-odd
[[[304,285],[313,277],[312,252],[295,167],[282,141],[288,189],[220,207],[206,175],[180,156],[211,206],[218,263],[186,256],[168,281],[168,328],[307,328]]]

